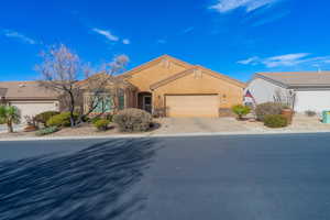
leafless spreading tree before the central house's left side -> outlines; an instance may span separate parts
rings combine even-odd
[[[58,94],[70,113],[72,127],[91,113],[105,94],[112,94],[113,87],[123,84],[116,74],[123,70],[129,62],[125,55],[120,55],[101,65],[102,70],[95,70],[63,44],[42,53],[42,58],[43,63],[36,66],[41,74],[40,85]],[[85,94],[89,94],[88,98],[84,97]],[[79,113],[78,119],[76,112]]]

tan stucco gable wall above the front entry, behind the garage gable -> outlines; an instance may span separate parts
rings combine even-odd
[[[183,65],[175,64],[174,62],[169,62],[169,65],[165,62],[160,62],[155,65],[150,66],[148,68],[133,74],[131,78],[128,79],[128,81],[138,87],[139,91],[151,91],[150,86],[152,84],[155,84],[186,69],[187,68],[185,68]]]

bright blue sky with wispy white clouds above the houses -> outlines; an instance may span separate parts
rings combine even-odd
[[[0,80],[33,80],[63,43],[99,65],[163,54],[246,81],[256,72],[330,69],[327,0],[2,0]]]

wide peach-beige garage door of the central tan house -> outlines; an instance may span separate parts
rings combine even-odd
[[[219,117],[217,95],[166,96],[167,117]]]

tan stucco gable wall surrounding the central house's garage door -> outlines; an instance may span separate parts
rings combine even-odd
[[[217,94],[220,99],[219,108],[231,108],[242,103],[243,88],[227,80],[201,73],[191,73],[167,85],[158,87],[153,92],[154,108],[164,107],[165,95],[197,95]]]

